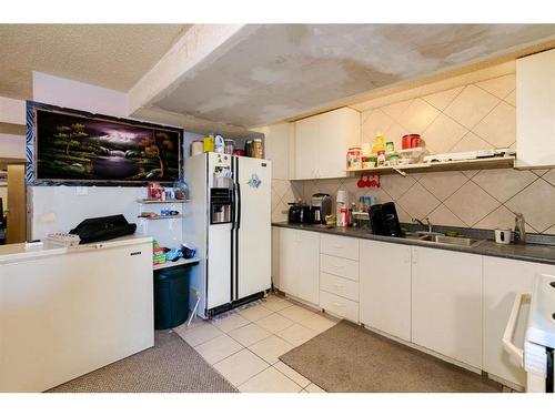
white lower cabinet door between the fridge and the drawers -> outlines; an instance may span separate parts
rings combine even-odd
[[[320,233],[293,229],[273,229],[274,285],[299,300],[319,304],[320,286]]]

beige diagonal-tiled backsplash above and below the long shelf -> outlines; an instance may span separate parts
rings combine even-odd
[[[515,75],[507,74],[362,113],[362,140],[377,133],[401,148],[406,133],[420,133],[431,153],[511,146],[515,135]],[[373,195],[394,201],[402,222],[428,216],[433,224],[476,229],[513,227],[515,213],[526,219],[527,232],[555,234],[555,170],[430,172],[382,175],[380,189],[359,189],[357,177],[317,181],[274,181],[272,220],[284,221],[286,203],[302,195],[339,189],[351,201]],[[275,194],[275,195],[274,195]]]

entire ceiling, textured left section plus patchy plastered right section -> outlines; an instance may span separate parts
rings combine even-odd
[[[133,116],[241,136],[555,39],[555,24],[246,24],[203,48],[199,27],[0,24],[0,97],[32,98],[32,71],[129,92],[164,54],[176,67],[196,49]],[[193,47],[170,50],[184,34]]]

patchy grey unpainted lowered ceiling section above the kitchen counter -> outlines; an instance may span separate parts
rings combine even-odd
[[[514,51],[555,24],[261,24],[165,91],[161,109],[250,128]],[[239,39],[239,34],[236,35]]]

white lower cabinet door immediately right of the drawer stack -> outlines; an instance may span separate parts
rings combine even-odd
[[[360,244],[361,323],[411,341],[411,246]]]

